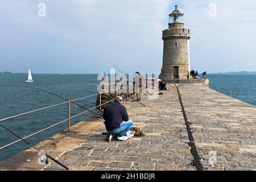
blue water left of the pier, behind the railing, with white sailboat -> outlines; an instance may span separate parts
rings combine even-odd
[[[69,100],[75,100],[85,96],[90,96],[97,93],[97,75],[33,75],[34,82],[27,83],[27,74],[0,74],[0,119],[10,117],[12,115],[25,113],[27,111],[40,109],[42,107],[51,106],[66,102],[65,100],[53,96],[51,94],[28,89],[18,88],[18,86],[32,86],[47,90],[52,93],[59,94]],[[85,100],[77,101],[79,105],[86,108],[92,108],[96,105],[96,96]],[[76,105],[71,104],[71,116],[79,114],[84,109],[76,108]],[[53,107],[51,109],[39,111],[33,114],[28,114],[23,117],[10,119],[1,124],[11,129],[20,137],[25,137],[36,131],[42,130],[57,122],[68,118],[68,105]],[[86,113],[72,119],[72,125],[85,119],[91,115]],[[37,144],[44,139],[51,137],[57,132],[67,129],[68,123],[64,122],[61,125],[53,127],[47,131],[43,131],[34,137],[28,138],[28,142]],[[0,128],[0,147],[5,146],[10,142],[17,140],[15,136],[8,131]],[[19,152],[30,148],[24,142],[19,142],[0,151],[0,161],[10,158]]]

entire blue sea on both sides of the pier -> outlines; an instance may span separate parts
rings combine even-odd
[[[34,82],[26,82],[27,74],[24,73],[0,74],[0,119],[66,102],[63,98],[40,90],[26,88],[26,86],[43,89],[68,100],[75,100],[97,93],[97,75],[33,74],[32,76]],[[208,74],[208,78],[211,89],[256,106],[256,75]],[[77,101],[76,103],[90,109],[96,105],[96,96]],[[71,116],[82,111],[85,111],[85,109],[71,104]],[[91,114],[88,112],[72,119],[71,124],[75,125]],[[9,119],[1,122],[1,125],[7,127],[7,129],[10,129],[20,137],[26,137],[36,131],[63,121],[67,117],[68,105],[65,104]],[[32,144],[37,144],[67,129],[67,126],[68,123],[64,122],[26,140]],[[9,131],[0,127],[0,147],[17,139]],[[0,150],[0,162],[28,148],[30,146],[20,141],[2,149]]]

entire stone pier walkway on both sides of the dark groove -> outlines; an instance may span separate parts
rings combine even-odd
[[[176,87],[158,100],[126,102],[129,117],[146,137],[105,142],[103,119],[90,117],[38,144],[71,170],[196,170]],[[190,92],[190,89],[193,92]],[[200,85],[179,85],[204,170],[256,169],[256,107]],[[210,162],[209,162],[210,160]],[[0,163],[0,169],[63,170],[38,164],[30,149]],[[211,161],[213,161],[211,163]]]

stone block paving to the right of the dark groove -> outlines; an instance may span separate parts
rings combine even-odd
[[[204,168],[255,170],[256,107],[203,86],[179,89]]]

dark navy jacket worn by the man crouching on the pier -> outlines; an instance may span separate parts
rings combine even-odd
[[[106,130],[118,129],[123,121],[129,121],[125,106],[118,101],[104,109],[103,118],[105,119]]]

